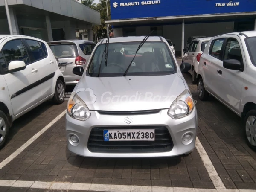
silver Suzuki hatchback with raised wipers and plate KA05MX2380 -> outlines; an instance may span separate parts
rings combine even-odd
[[[103,39],[67,104],[68,149],[87,157],[171,157],[195,148],[197,111],[162,37]]]

